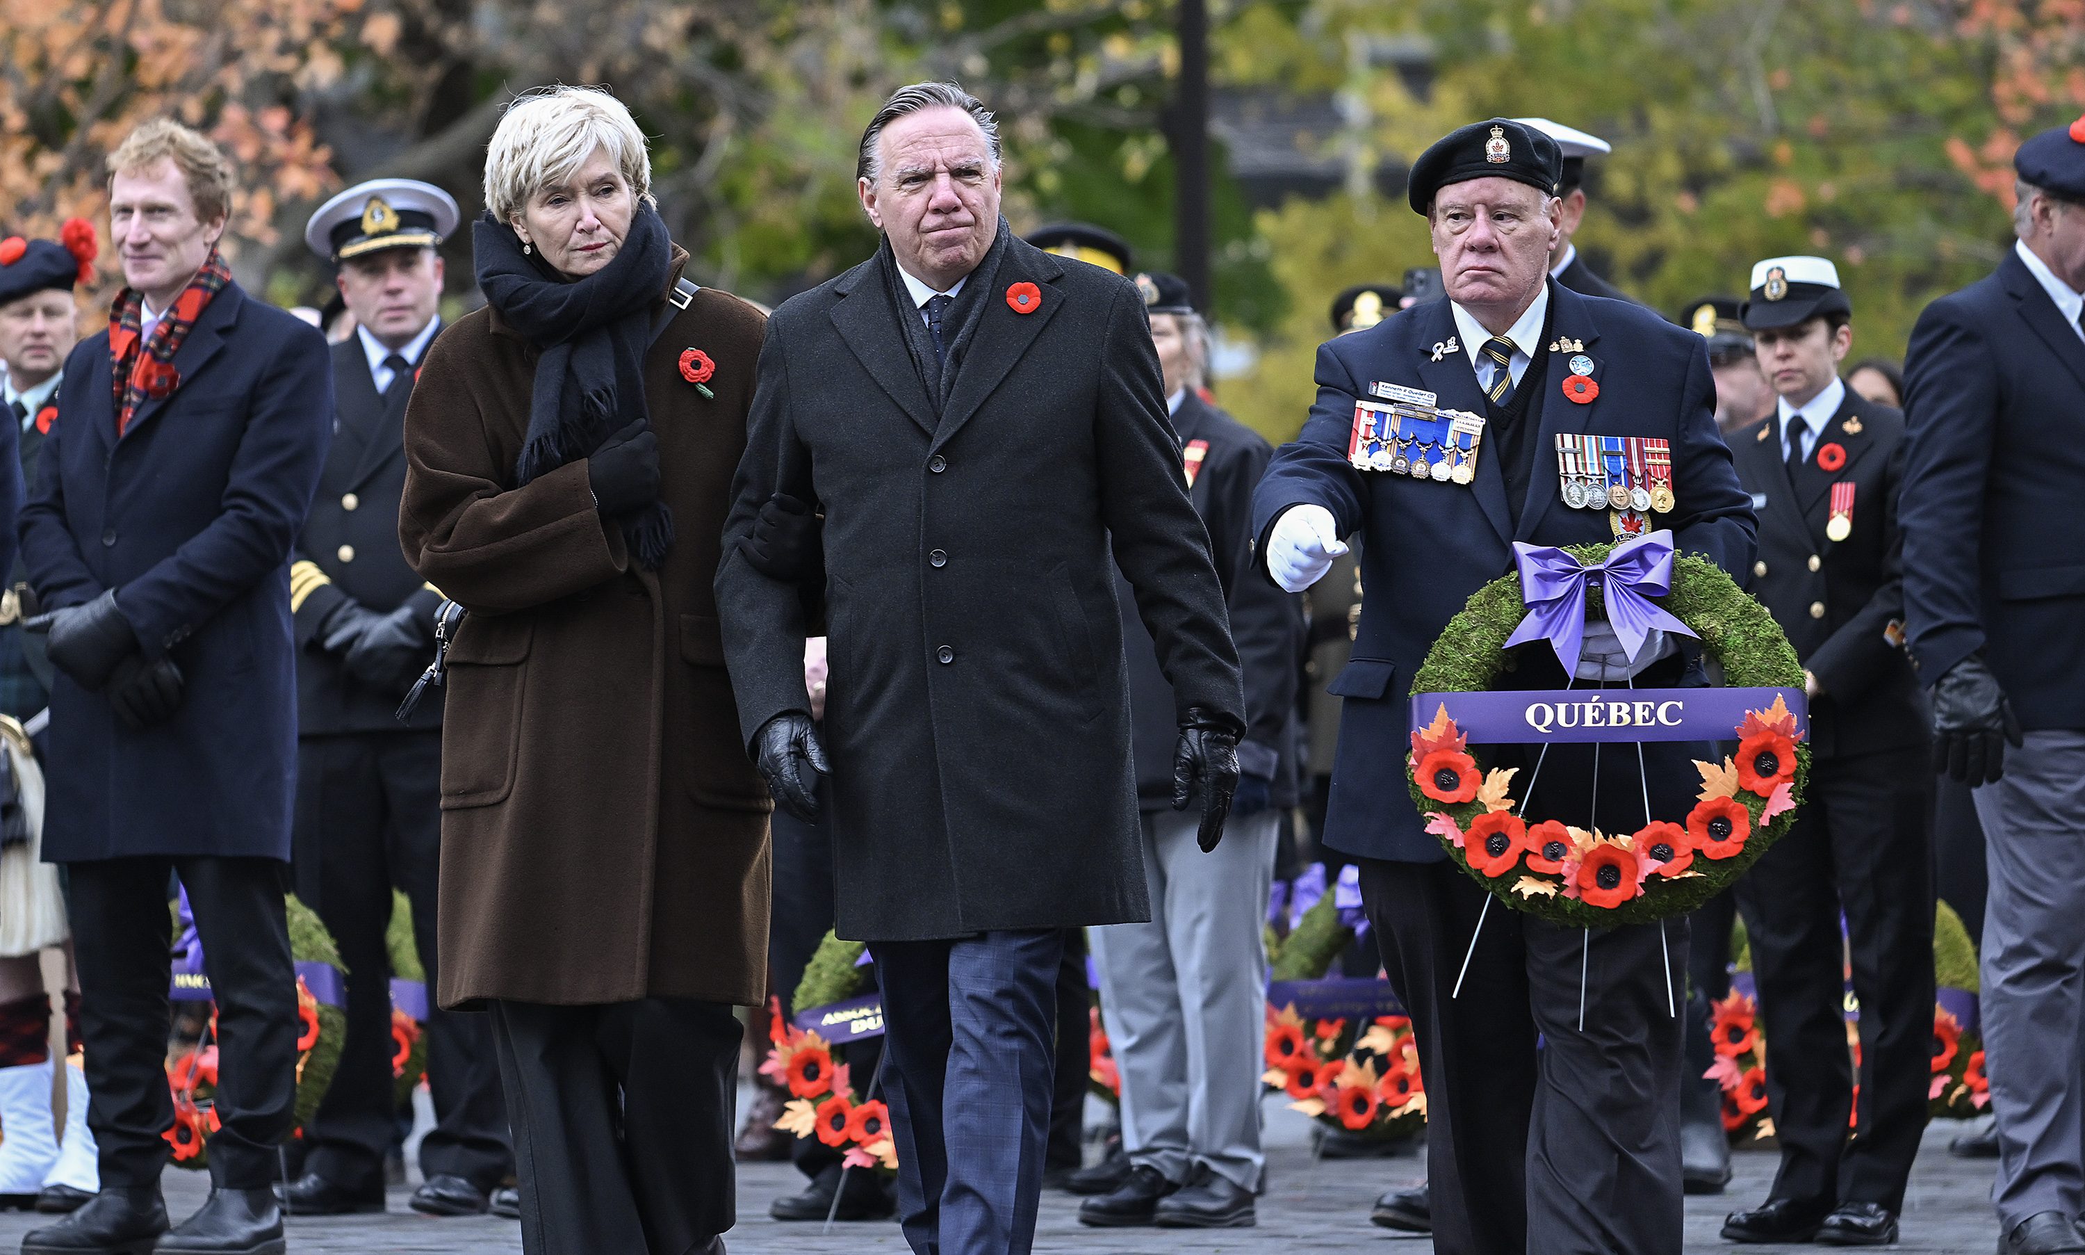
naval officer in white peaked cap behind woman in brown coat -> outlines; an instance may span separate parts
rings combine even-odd
[[[325,1101],[304,1130],[294,1215],[384,1209],[396,1132],[386,934],[392,890],[413,909],[413,942],[436,984],[436,869],[442,859],[442,698],[400,721],[398,703],[434,659],[442,594],[398,550],[404,407],[442,331],[448,192],[375,179],[327,200],[304,242],[340,269],[354,334],[334,346],[338,432],[319,498],[290,565],[296,617],[296,894],[334,934],[348,969],[348,1032]],[[513,1172],[498,1057],[484,1015],[427,1001],[434,1128],[413,1209],[475,1215]]]

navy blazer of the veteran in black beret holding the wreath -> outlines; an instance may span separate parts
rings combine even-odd
[[[1739,488],[1731,450],[1716,432],[1716,384],[1706,340],[1639,304],[1578,296],[1553,279],[1549,304],[1547,334],[1583,342],[1599,396],[1587,404],[1564,396],[1572,352],[1551,352],[1545,377],[1522,377],[1522,388],[1545,392],[1541,429],[1530,440],[1535,473],[1518,527],[1491,440],[1478,450],[1476,482],[1470,486],[1357,471],[1347,463],[1353,402],[1374,382],[1434,392],[1443,409],[1485,413],[1468,354],[1443,352],[1434,361],[1434,344],[1455,336],[1447,300],[1418,304],[1318,346],[1318,402],[1303,434],[1276,450],[1253,494],[1261,567],[1268,532],[1289,507],[1322,505],[1332,511],[1341,536],[1366,532],[1362,621],[1353,657],[1330,686],[1347,700],[1332,763],[1326,844],[1347,855],[1405,863],[1445,857],[1439,840],[1426,834],[1403,782],[1412,678],[1470,594],[1514,569],[1512,542],[1614,540],[1608,511],[1564,505],[1557,434],[1668,440],[1676,509],[1655,515],[1653,525],[1670,527],[1681,552],[1701,555],[1733,575],[1751,565],[1751,500]]]

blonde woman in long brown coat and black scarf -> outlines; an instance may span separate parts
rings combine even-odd
[[[763,319],[688,254],[607,92],[517,100],[486,161],[482,309],[404,423],[407,561],[448,650],[440,990],[494,1017],[521,1247],[721,1251],[767,792],[711,575]]]

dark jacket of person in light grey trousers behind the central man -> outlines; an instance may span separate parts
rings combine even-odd
[[[1245,736],[1238,767],[1270,782],[1276,807],[1297,803],[1297,636],[1301,598],[1282,592],[1253,565],[1253,488],[1274,448],[1257,432],[1207,404],[1191,390],[1172,417],[1182,448],[1201,442],[1188,498],[1209,532],[1209,557],[1230,607],[1230,640],[1245,673]],[[1145,811],[1172,807],[1172,759],[1180,742],[1178,700],[1159,650],[1136,611],[1134,590],[1115,575],[1122,605],[1122,646],[1130,663],[1130,736],[1136,753],[1136,798]]]

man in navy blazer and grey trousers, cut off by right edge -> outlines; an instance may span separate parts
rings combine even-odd
[[[2018,240],[1904,361],[1904,625],[1974,786],[2002,1255],[2085,1251],[2085,119],[2014,154]]]

